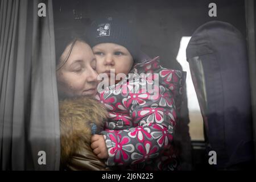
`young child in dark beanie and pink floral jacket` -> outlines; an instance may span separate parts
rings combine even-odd
[[[102,135],[91,139],[94,154],[113,169],[174,170],[172,141],[186,73],[161,67],[159,57],[139,63],[134,28],[125,20],[98,20],[89,35],[97,73],[110,79],[127,75],[98,90],[109,121]]]

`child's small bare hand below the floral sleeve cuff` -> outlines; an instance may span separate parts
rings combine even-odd
[[[109,158],[108,150],[106,148],[106,143],[103,135],[93,135],[90,141],[92,143],[90,147],[92,147],[93,153],[96,154],[98,158]]]

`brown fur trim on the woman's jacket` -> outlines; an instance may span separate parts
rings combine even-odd
[[[59,102],[61,166],[68,163],[81,147],[90,146],[91,123],[102,130],[108,116],[105,107],[94,98],[79,97]],[[97,157],[97,156],[96,156]]]

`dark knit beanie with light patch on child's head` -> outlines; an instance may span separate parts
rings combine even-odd
[[[139,52],[139,43],[133,22],[125,18],[106,17],[94,20],[88,32],[91,47],[101,43],[114,43],[125,47],[136,61]]]

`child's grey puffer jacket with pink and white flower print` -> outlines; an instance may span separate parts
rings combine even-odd
[[[109,110],[104,135],[108,166],[173,170],[174,129],[186,72],[166,69],[159,57],[138,63],[130,74],[96,95]]]

